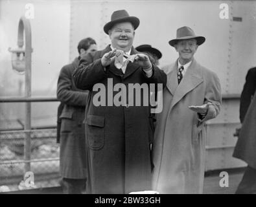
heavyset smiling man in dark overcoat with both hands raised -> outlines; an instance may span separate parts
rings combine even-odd
[[[89,193],[130,193],[151,189],[150,128],[148,106],[95,106],[93,91],[95,83],[102,83],[108,102],[118,93],[108,88],[123,83],[166,83],[166,75],[152,64],[145,54],[138,54],[132,43],[134,30],[139,26],[137,17],[129,16],[126,10],[113,12],[111,21],[104,26],[111,45],[106,49],[87,54],[73,74],[76,87],[89,90],[86,107],[86,140]],[[134,62],[118,69],[116,59],[122,52],[126,57],[134,55]],[[124,58],[126,59],[126,58]],[[119,60],[120,61],[120,60]],[[108,96],[108,90],[113,96]],[[119,90],[120,91],[120,90]],[[126,88],[128,93],[128,89]],[[128,94],[124,94],[128,96]],[[141,93],[142,100],[143,93]]]

